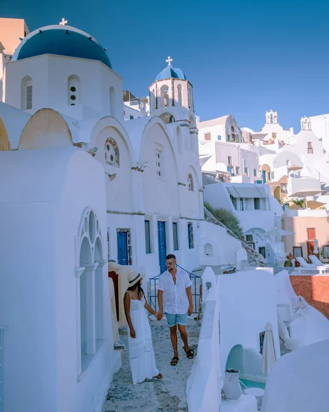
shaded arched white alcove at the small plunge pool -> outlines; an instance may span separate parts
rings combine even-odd
[[[240,379],[266,382],[262,374],[262,355],[249,347],[236,345],[232,347],[226,362],[226,369],[238,369]]]

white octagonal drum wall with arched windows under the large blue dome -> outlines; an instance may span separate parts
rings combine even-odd
[[[67,79],[72,75],[80,78],[81,104],[104,115],[111,114],[109,88],[113,87],[115,117],[123,122],[122,78],[95,60],[43,55],[12,61],[6,66],[5,103],[21,108],[21,80],[30,76],[33,84],[30,113],[48,107],[76,117],[76,106],[69,106],[67,100]]]

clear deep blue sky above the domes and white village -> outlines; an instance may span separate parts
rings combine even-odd
[[[29,29],[57,24],[89,32],[108,47],[124,88],[146,95],[166,66],[194,87],[201,120],[234,115],[259,130],[266,110],[299,131],[303,115],[328,113],[328,0],[2,0],[0,16]]]

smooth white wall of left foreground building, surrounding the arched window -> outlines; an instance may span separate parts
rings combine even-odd
[[[0,174],[0,324],[8,327],[6,408],[99,411],[120,366],[120,353],[113,351],[104,268],[104,339],[87,371],[78,377],[74,239],[89,206],[100,220],[103,256],[106,253],[104,171],[90,155],[73,147],[1,152],[0,157],[8,172]]]

